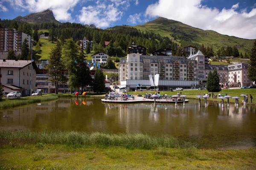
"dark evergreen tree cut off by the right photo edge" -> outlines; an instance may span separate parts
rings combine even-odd
[[[256,81],[256,40],[253,42],[253,48],[250,54],[250,63],[248,67],[248,78],[251,81]]]

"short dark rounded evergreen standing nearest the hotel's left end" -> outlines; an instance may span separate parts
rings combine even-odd
[[[96,69],[93,80],[93,91],[96,93],[105,91],[105,76],[100,69]]]

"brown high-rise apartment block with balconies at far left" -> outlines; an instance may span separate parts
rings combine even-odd
[[[28,40],[30,49],[30,35],[15,29],[0,28],[0,51],[21,51],[21,45],[25,39]]]

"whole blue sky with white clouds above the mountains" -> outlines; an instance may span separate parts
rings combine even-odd
[[[60,22],[105,29],[165,17],[189,26],[256,39],[256,0],[0,0],[0,18],[51,9]]]

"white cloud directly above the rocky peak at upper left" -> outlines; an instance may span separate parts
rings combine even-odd
[[[79,0],[3,0],[16,10],[40,12],[52,9],[56,20],[73,21],[69,11],[77,5]],[[0,4],[1,5],[1,4]]]

